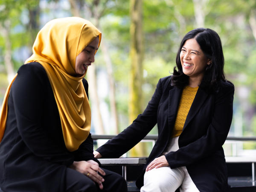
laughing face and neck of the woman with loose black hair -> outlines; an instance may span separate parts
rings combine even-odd
[[[210,59],[204,55],[200,45],[193,38],[186,40],[181,48],[180,62],[183,73],[189,76],[189,84],[196,82],[198,86],[204,77],[207,64],[210,64]]]

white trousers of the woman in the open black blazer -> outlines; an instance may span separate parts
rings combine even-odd
[[[163,154],[177,151],[178,138],[172,138]],[[140,192],[175,192],[180,187],[180,192],[199,192],[193,183],[186,166],[171,169],[169,166],[151,169],[145,172],[144,186]]]

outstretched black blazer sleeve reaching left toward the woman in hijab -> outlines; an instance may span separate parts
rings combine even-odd
[[[118,158],[139,143],[157,123],[157,108],[162,96],[162,79],[157,83],[157,88],[148,102],[145,111],[137,119],[119,133],[116,137],[97,148],[102,158]]]

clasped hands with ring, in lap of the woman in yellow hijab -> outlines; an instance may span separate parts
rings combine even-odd
[[[94,160],[88,161],[74,161],[70,166],[71,169],[75,169],[76,171],[86,175],[95,183],[98,183],[99,189],[103,189],[102,182],[104,179],[101,175],[106,175],[105,172],[99,167],[99,164]],[[99,173],[101,175],[99,175]]]

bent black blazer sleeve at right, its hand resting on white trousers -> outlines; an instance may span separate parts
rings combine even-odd
[[[230,130],[233,116],[233,95],[233,84],[227,83],[221,88],[215,99],[212,122],[207,133],[195,142],[166,154],[165,157],[171,168],[191,165],[204,157],[209,157],[221,148]]]

